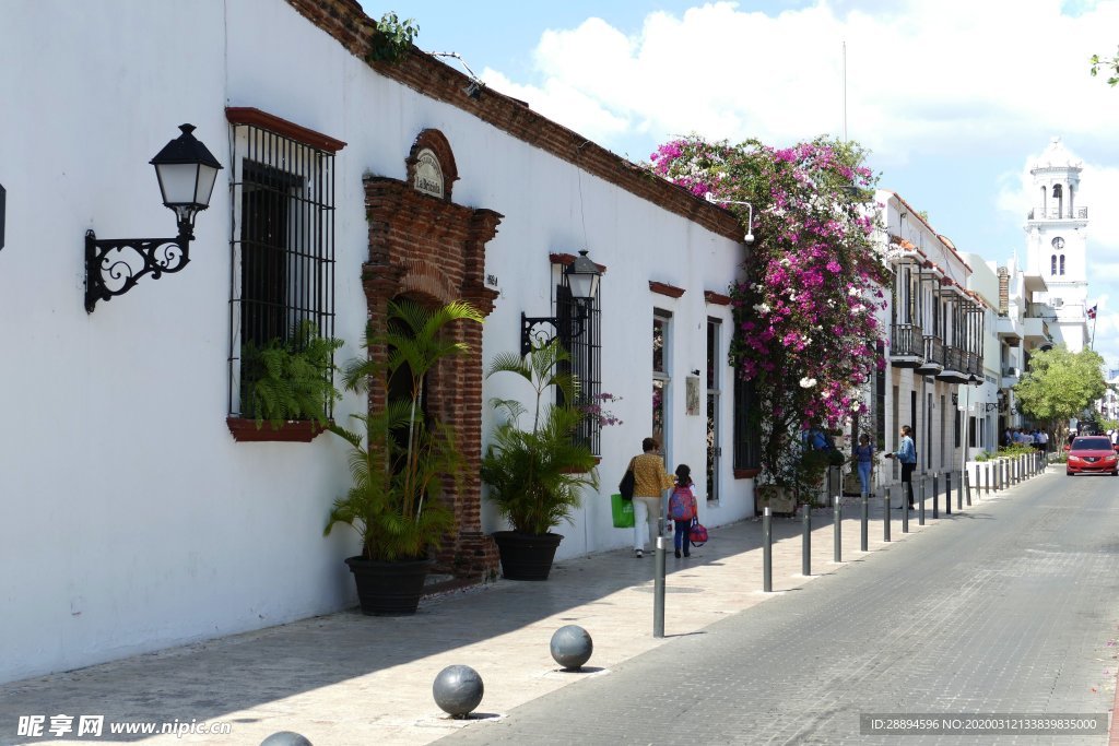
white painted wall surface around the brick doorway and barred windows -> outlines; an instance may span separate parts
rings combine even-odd
[[[49,28],[49,34],[45,29]],[[73,74],[75,68],[82,76]],[[440,129],[461,180],[454,201],[506,217],[487,271],[501,296],[483,356],[516,349],[521,311],[551,312],[549,252],[589,248],[602,283],[603,388],[626,421],[603,438],[603,489],[560,557],[623,547],[609,494],[650,429],[651,314],[674,313],[673,457],[704,479],[705,417],[683,381],[705,368],[703,291],[725,292],[735,242],[580,173],[570,163],[374,74],[281,0],[18,3],[0,25],[0,681],[70,669],[335,611],[354,603],[345,530],[322,537],[347,478],[337,438],[235,443],[226,424],[228,133],[224,108],[255,106],[345,140],[337,158],[337,333],[358,352],[367,252],[365,173],[403,178],[415,135]],[[181,273],[144,277],[83,308],[83,235],[175,233],[148,161],[190,122],[226,167]],[[585,227],[584,227],[585,226]],[[649,280],[686,287],[670,301]],[[730,369],[724,370],[730,388]],[[509,391],[497,379],[486,397]],[[359,403],[348,398],[344,417]],[[723,398],[723,499],[715,526],[752,512],[731,471]],[[485,432],[492,426],[490,415]],[[700,484],[700,487],[703,487]],[[486,530],[500,528],[483,510]]]

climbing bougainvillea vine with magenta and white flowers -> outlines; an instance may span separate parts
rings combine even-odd
[[[651,169],[711,196],[745,223],[754,243],[731,284],[730,357],[753,387],[763,481],[802,480],[802,433],[840,428],[866,410],[882,338],[887,270],[867,205],[876,177],[857,144],[820,138],[791,148],[690,136],[665,143]]]

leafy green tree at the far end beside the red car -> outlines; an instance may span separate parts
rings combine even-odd
[[[1059,344],[1031,357],[1014,394],[1026,416],[1047,423],[1051,432],[1063,437],[1069,419],[1079,417],[1107,389],[1099,352],[1070,352]]]

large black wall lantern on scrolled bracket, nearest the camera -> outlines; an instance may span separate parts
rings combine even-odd
[[[175,210],[179,235],[175,238],[102,238],[85,234],[85,311],[93,313],[97,301],[123,295],[145,274],[158,280],[164,272],[178,272],[190,261],[195,216],[209,207],[214,181],[222,164],[184,124],[178,138],[159,151],[156,167],[163,205]],[[125,252],[131,252],[125,254]]]

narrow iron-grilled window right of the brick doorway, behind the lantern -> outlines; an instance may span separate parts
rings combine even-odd
[[[564,369],[579,381],[576,406],[601,404],[599,397],[602,394],[602,314],[599,299],[574,298],[566,275],[561,272],[560,276],[562,280],[556,285],[555,300],[556,321],[560,324],[556,332],[560,336],[560,343],[571,353],[571,360],[564,365]],[[599,419],[583,418],[575,433],[575,440],[589,445],[591,453],[600,454],[602,426]]]

